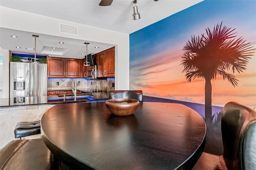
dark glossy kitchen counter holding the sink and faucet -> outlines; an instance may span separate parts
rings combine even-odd
[[[62,89],[62,90],[70,90],[70,89]],[[77,90],[86,92],[86,89],[77,89]],[[58,91],[60,91],[60,89],[58,89]],[[10,102],[9,102],[9,99],[10,99]],[[60,104],[60,103],[90,102],[90,101],[100,101],[100,100],[107,100],[107,99],[109,99],[109,91],[77,95],[76,99],[74,98],[74,96],[66,95],[65,100],[63,96],[58,96],[58,95],[19,97],[18,99],[17,98],[1,98],[0,107],[42,105],[42,104],[54,104],[54,103]]]

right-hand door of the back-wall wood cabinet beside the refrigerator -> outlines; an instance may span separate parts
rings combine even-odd
[[[66,77],[80,77],[81,60],[66,58]]]

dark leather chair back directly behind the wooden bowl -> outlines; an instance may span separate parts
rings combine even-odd
[[[141,90],[114,90],[110,91],[110,99],[136,99],[143,101]]]

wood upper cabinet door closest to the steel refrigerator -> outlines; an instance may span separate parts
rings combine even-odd
[[[65,77],[65,59],[58,57],[48,58],[48,77]]]

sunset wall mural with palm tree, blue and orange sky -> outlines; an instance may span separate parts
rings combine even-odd
[[[255,11],[256,1],[204,0],[130,34],[130,89],[208,119],[205,152],[223,154],[226,103],[256,107]]]

